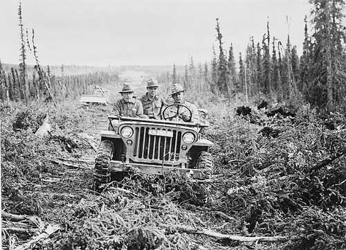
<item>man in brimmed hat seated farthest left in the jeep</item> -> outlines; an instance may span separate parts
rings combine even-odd
[[[142,103],[134,98],[134,89],[132,89],[131,84],[125,82],[119,93],[121,93],[122,98],[114,104],[114,115],[147,118],[147,116],[143,115]]]

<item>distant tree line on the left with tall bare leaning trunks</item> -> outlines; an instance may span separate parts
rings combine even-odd
[[[28,103],[30,100],[64,100],[75,98],[82,93],[89,93],[94,85],[118,81],[118,73],[111,68],[95,71],[95,69],[86,66],[65,67],[62,64],[58,74],[53,73],[49,65],[44,68],[38,60],[35,31],[32,30],[29,39],[28,30],[24,29],[21,2],[19,2],[18,18],[21,42],[20,63],[19,66],[10,66],[9,68],[8,65],[4,66],[0,61],[1,101],[23,100]],[[35,66],[26,64],[28,51],[33,54]],[[79,74],[71,75],[71,70]],[[91,73],[80,74],[85,70]],[[53,71],[57,71],[56,66],[53,67]]]

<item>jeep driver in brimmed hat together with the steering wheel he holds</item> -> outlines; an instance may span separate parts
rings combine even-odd
[[[185,91],[186,89],[181,84],[177,83],[173,85],[170,96],[172,96],[174,103],[164,110],[165,114],[163,114],[163,117],[170,120],[199,123],[197,107],[184,100]]]

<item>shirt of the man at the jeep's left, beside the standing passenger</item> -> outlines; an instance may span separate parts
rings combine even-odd
[[[113,114],[115,116],[138,117],[143,115],[143,105],[139,100],[134,98],[125,102],[123,98],[114,103]]]

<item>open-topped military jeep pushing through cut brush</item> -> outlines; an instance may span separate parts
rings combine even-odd
[[[166,109],[170,106],[174,105]],[[122,176],[129,167],[156,175],[179,170],[195,179],[211,177],[214,163],[208,148],[213,143],[201,138],[208,122],[170,120],[179,116],[179,109],[173,116],[165,114],[163,120],[108,116],[108,130],[100,133],[95,159],[95,190],[102,190],[102,184]]]

